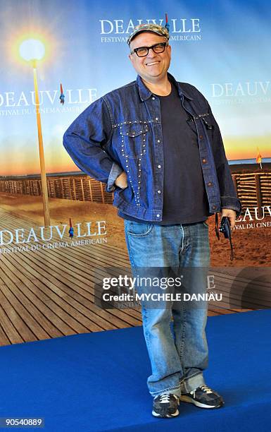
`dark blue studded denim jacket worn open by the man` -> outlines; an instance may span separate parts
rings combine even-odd
[[[170,73],[168,78],[177,85],[182,106],[198,135],[210,214],[231,208],[238,216],[241,203],[207,100],[193,85],[177,83]],[[106,183],[106,191],[114,191],[113,205],[121,212],[143,221],[162,220],[164,160],[160,101],[139,76],[89,105],[65,132],[63,145],[77,167]],[[114,184],[122,171],[127,174],[125,189]]]

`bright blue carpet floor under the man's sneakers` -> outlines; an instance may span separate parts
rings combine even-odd
[[[0,347],[0,417],[44,417],[49,432],[270,431],[270,324],[269,309],[208,318],[206,382],[225,407],[182,403],[177,419],[151,416],[141,327]]]

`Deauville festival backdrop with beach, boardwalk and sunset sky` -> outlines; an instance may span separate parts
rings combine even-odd
[[[2,345],[141,323],[137,308],[96,304],[94,286],[107,269],[129,268],[123,221],[112,194],[78,170],[62,138],[89,104],[135,79],[127,36],[139,23],[165,23],[165,13],[170,72],[208,99],[243,205],[232,232],[234,261],[228,241],[216,239],[209,219],[213,268],[221,275],[224,267],[228,286],[238,282],[243,294],[253,280],[258,289],[263,279],[270,283],[262,276],[271,258],[270,2],[0,0]],[[26,40],[39,41],[39,107]],[[252,269],[249,275],[246,268]],[[270,307],[266,292],[254,306],[263,303]]]

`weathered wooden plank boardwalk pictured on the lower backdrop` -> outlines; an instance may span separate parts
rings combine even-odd
[[[0,209],[0,231],[22,228],[29,232],[30,227],[38,229],[36,222]],[[61,240],[55,237],[53,241]],[[14,243],[0,247],[12,246]],[[2,252],[0,345],[141,325],[139,308],[105,310],[95,304],[94,286],[108,276],[108,268],[116,268],[115,275],[120,268],[130,269],[127,251],[111,244],[89,244]],[[227,292],[234,275],[229,270],[228,275],[218,277]],[[240,280],[239,284],[247,282]],[[235,311],[228,304],[222,306],[218,309],[210,304],[209,315]]]

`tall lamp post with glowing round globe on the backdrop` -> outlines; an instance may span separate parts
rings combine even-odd
[[[50,212],[49,212],[49,200],[48,190],[46,181],[46,170],[44,161],[44,146],[42,140],[42,121],[39,112],[39,90],[37,85],[37,61],[44,57],[45,48],[41,41],[36,39],[27,39],[20,44],[20,56],[26,61],[30,61],[33,68],[34,76],[34,95],[37,113],[37,135],[39,140],[39,164],[41,170],[41,181],[42,181],[42,202],[44,209],[44,225],[49,227],[50,225]]]

